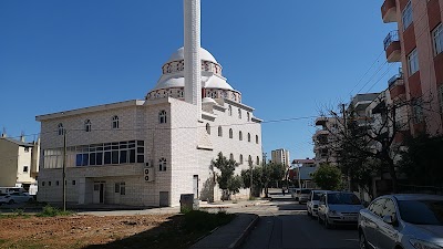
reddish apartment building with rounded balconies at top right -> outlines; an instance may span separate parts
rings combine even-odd
[[[443,0],[384,0],[383,22],[396,22],[388,33],[384,50],[388,62],[401,62],[401,75],[389,84],[394,102],[406,101],[412,135],[441,134],[443,110]]]

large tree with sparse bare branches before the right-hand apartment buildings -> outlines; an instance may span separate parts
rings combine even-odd
[[[389,91],[389,90],[387,90]],[[334,136],[332,151],[339,157],[339,166],[343,174],[351,178],[351,181],[360,187],[367,187],[375,175],[382,176],[389,173],[392,183],[392,191],[398,191],[396,158],[403,149],[402,144],[395,138],[409,134],[411,116],[408,108],[422,108],[425,103],[420,98],[414,100],[385,100],[380,94],[374,101],[371,115],[364,110],[357,110],[357,106],[349,105],[342,115],[333,110],[327,113],[339,122],[336,131],[329,129]],[[321,116],[326,116],[321,114]],[[415,118],[418,118],[415,116]]]

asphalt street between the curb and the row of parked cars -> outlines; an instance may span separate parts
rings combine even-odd
[[[243,249],[358,249],[354,228],[328,230],[316,219],[306,215],[306,205],[275,196],[272,201],[243,209],[260,216],[256,228],[245,241]]]

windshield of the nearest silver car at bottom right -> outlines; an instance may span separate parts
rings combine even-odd
[[[442,200],[400,200],[401,218],[415,225],[443,225]]]

